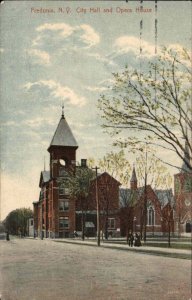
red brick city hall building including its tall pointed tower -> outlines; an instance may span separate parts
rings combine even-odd
[[[34,202],[34,229],[36,236],[69,237],[74,231],[81,231],[82,211],[78,199],[69,195],[69,174],[76,171],[77,142],[62,112],[61,119],[48,148],[50,154],[50,170],[40,174],[39,200]],[[81,160],[81,166],[86,160]],[[86,208],[86,230],[96,233],[96,198],[93,179]],[[100,174],[97,178],[100,200],[101,230],[108,222],[109,230],[116,231],[119,225],[119,185],[109,174]],[[110,187],[110,189],[109,189]],[[107,192],[106,192],[107,191]],[[107,220],[107,221],[106,221]]]

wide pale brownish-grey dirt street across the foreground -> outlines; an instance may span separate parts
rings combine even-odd
[[[51,240],[0,241],[1,300],[189,300],[191,262]]]

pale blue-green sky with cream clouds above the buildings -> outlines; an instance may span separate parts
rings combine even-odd
[[[138,68],[141,18],[144,59],[154,56],[154,3],[144,1],[148,13],[137,13],[137,7],[139,1],[1,4],[1,220],[38,200],[40,172],[44,157],[49,168],[47,148],[63,103],[79,145],[77,161],[118,150],[103,132],[97,102],[113,83],[113,72],[125,65]],[[157,49],[190,49],[191,17],[190,1],[158,1]],[[165,150],[159,156],[181,164]]]

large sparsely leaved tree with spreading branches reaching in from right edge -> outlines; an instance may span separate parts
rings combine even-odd
[[[112,134],[123,134],[115,144],[140,149],[145,142],[155,144],[175,152],[192,171],[192,70],[188,51],[163,48],[148,64],[146,73],[126,67],[113,76],[115,83],[100,97],[98,106],[103,127]],[[134,135],[125,138],[130,132]]]

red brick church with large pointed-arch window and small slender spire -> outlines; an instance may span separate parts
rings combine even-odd
[[[142,233],[145,211],[147,235],[164,235],[169,230],[174,233],[172,190],[153,190],[150,185],[137,187],[135,168],[130,189],[120,189],[120,206],[121,235],[130,230]]]

